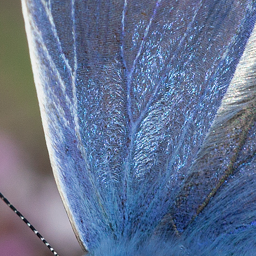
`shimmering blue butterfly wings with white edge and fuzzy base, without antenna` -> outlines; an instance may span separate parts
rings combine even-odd
[[[255,0],[22,0],[52,169],[95,256],[256,255]]]

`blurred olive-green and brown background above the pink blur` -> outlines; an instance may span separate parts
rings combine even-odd
[[[0,128],[50,172],[20,0],[0,0]]]

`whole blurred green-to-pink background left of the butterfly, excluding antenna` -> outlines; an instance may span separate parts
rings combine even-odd
[[[20,0],[0,1],[0,192],[60,256],[82,255],[49,164]],[[0,255],[53,255],[2,201]]]

